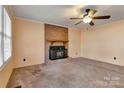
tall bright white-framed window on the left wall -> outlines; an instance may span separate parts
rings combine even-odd
[[[11,19],[5,8],[0,6],[0,67],[11,56]]]

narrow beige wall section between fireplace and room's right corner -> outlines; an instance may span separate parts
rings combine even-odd
[[[81,31],[74,28],[68,29],[69,57],[81,57]]]

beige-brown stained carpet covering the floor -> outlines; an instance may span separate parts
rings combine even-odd
[[[7,87],[124,87],[124,67],[86,58],[63,59],[47,65],[14,69]]]

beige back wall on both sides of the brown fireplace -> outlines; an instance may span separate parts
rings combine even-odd
[[[45,60],[44,24],[25,19],[14,20],[14,65],[15,68],[42,64]],[[81,56],[81,31],[69,28],[69,56]],[[23,61],[26,58],[26,61]]]

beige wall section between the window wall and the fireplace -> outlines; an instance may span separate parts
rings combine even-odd
[[[43,23],[16,18],[13,37],[15,68],[44,63],[44,41]]]

